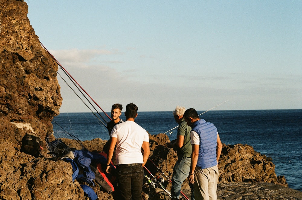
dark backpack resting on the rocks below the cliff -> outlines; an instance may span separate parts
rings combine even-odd
[[[21,151],[37,157],[41,155],[43,149],[43,141],[33,133],[26,133],[22,139]]]

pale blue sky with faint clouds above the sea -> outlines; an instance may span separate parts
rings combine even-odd
[[[302,1],[25,2],[40,42],[106,112],[302,109]],[[60,112],[89,112],[63,79]]]

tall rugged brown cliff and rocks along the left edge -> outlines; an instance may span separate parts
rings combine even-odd
[[[45,143],[62,102],[58,67],[41,47],[27,9],[23,1],[0,0],[0,199],[83,199],[69,163],[19,151],[27,132]]]

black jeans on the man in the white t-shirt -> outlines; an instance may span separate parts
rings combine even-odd
[[[117,165],[120,194],[124,200],[141,200],[144,170],[141,163]]]

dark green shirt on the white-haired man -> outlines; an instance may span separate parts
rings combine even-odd
[[[191,157],[192,144],[191,144],[191,139],[190,139],[190,132],[191,132],[191,127],[188,126],[185,119],[182,119],[182,121],[179,123],[178,129],[177,129],[177,136],[183,135],[183,136],[185,136],[185,138],[184,138],[184,144],[183,144],[182,148],[177,148],[178,159],[182,158],[183,156]]]

